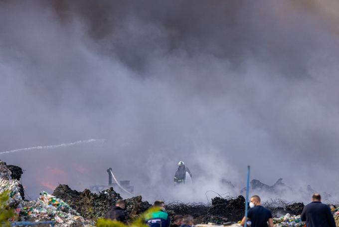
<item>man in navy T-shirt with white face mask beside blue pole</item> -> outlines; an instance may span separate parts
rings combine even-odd
[[[250,200],[250,210],[247,213],[247,221],[251,221],[251,227],[273,227],[272,213],[261,206],[259,196],[252,196]],[[267,224],[268,223],[268,224]],[[245,224],[245,217],[240,225]]]

